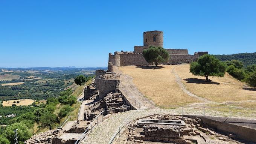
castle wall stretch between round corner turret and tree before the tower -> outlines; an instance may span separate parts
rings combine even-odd
[[[147,65],[143,54],[121,54],[120,55],[120,66],[136,65],[143,66]]]

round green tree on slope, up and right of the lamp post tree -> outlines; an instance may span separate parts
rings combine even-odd
[[[57,122],[57,117],[55,114],[50,113],[44,113],[40,117],[40,124],[42,127],[49,127],[49,129],[52,129],[54,124]]]

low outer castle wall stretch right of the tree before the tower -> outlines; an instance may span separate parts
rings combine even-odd
[[[169,63],[191,63],[197,61],[198,55],[190,55],[190,54],[171,54]]]

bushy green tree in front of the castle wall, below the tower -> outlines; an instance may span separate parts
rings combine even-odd
[[[157,66],[158,63],[167,62],[170,55],[161,47],[150,46],[143,51],[143,57],[148,63],[155,63],[155,66]]]

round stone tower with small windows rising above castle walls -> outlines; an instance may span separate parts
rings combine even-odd
[[[143,33],[144,46],[160,46],[163,48],[163,31],[146,31]]]

